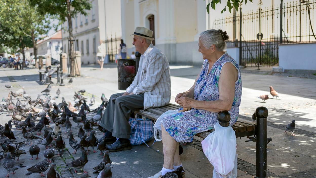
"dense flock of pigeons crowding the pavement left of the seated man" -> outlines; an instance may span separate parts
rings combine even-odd
[[[5,86],[11,88],[11,86]],[[84,170],[85,164],[88,163],[88,148],[92,147],[93,152],[96,153],[95,147],[100,150],[100,155],[103,154],[103,160],[100,164],[94,167],[94,174],[98,173],[98,178],[111,178],[111,163],[112,161],[109,158],[109,151],[106,150],[106,143],[104,138],[96,138],[95,131],[93,128],[97,126],[100,132],[105,133],[106,130],[98,125],[102,117],[102,110],[106,107],[108,100],[105,95],[102,93],[101,100],[102,104],[91,111],[89,106],[86,104],[86,99],[82,96],[82,93],[85,90],[80,90],[75,92],[75,106],[80,108],[79,112],[76,112],[77,109],[71,105],[69,102],[66,103],[64,97],[62,97],[62,102],[56,104],[55,99],[59,97],[60,90],[58,89],[55,98],[51,98],[49,92],[51,91],[51,85],[48,85],[42,93],[45,93],[45,98],[41,98],[38,95],[38,98],[32,100],[32,98],[26,93],[25,90],[20,89],[17,92],[9,92],[9,95],[6,99],[2,99],[0,105],[0,112],[6,110],[9,113],[9,116],[12,115],[12,120],[9,120],[8,123],[5,123],[4,126],[0,125],[0,145],[3,151],[0,152],[0,160],[2,161],[2,167],[9,173],[12,171],[12,174],[15,174],[15,171],[19,168],[25,167],[24,162],[20,162],[19,157],[22,154],[27,154],[25,150],[22,149],[23,146],[30,142],[31,147],[29,148],[29,154],[31,160],[36,155],[36,160],[39,159],[38,155],[43,154],[45,159],[34,164],[33,166],[27,169],[27,174],[31,175],[33,173],[40,173],[41,176],[46,176],[47,178],[59,178],[58,171],[56,172],[56,164],[52,162],[52,158],[57,151],[58,155],[62,154],[62,151],[66,149],[65,141],[62,137],[62,127],[64,127],[64,135],[69,136],[69,145],[76,151],[81,151],[81,157],[75,159],[72,162],[66,163],[67,168],[74,168],[75,172],[78,169],[83,171],[82,178],[90,177],[88,172]],[[16,103],[13,103],[12,96],[16,99]],[[23,103],[23,101],[25,103]],[[95,102],[95,97],[92,96],[90,100],[90,105],[93,105]],[[43,108],[41,110],[41,108]],[[96,113],[90,119],[87,119],[86,113]],[[40,118],[39,122],[35,122],[37,118]],[[78,137],[81,140],[74,139],[74,135],[71,132],[71,129],[74,128],[70,122],[72,121],[77,123],[79,127]],[[15,129],[21,129],[23,138],[18,140],[15,137],[15,134],[12,132],[12,122],[15,125]],[[51,122],[55,123],[55,127],[52,129],[49,124]],[[41,137],[41,131],[44,128],[44,135]],[[68,134],[67,134],[68,133]],[[18,137],[19,138],[19,137]],[[39,140],[37,144],[33,144],[32,141]],[[40,150],[38,146],[44,145],[46,150]],[[51,164],[50,164],[51,163]],[[50,166],[50,169],[43,174]],[[100,172],[100,173],[99,173]],[[60,173],[60,172],[59,172]]]

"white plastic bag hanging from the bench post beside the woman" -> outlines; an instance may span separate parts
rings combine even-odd
[[[222,127],[218,122],[214,128],[215,132],[209,134],[201,144],[205,156],[216,169],[217,175],[226,178],[227,176],[224,175],[228,175],[235,166],[236,134],[231,126]]]

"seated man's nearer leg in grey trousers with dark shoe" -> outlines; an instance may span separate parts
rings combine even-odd
[[[129,141],[131,126],[128,121],[132,112],[144,108],[143,103],[144,93],[121,96],[116,99],[112,136],[118,137],[119,140],[107,146],[109,151],[131,149]]]

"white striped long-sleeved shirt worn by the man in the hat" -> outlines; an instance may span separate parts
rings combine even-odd
[[[144,93],[144,110],[161,107],[170,102],[171,80],[167,57],[150,44],[140,57],[138,71],[126,92]]]

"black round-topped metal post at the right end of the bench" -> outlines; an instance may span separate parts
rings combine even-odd
[[[256,177],[267,177],[267,117],[268,109],[265,107],[258,107],[256,109],[257,116],[257,165],[256,165]]]

